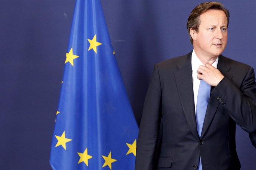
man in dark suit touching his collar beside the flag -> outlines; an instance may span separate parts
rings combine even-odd
[[[155,65],[136,170],[240,170],[236,124],[256,131],[256,83],[252,67],[221,55],[228,24],[223,4],[198,5],[187,23],[194,50]]]

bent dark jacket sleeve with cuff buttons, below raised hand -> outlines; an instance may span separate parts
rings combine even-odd
[[[249,67],[247,74],[235,83],[224,77],[211,91],[229,116],[247,132],[256,131],[256,89],[255,73]],[[237,82],[241,82],[239,85]],[[238,87],[239,86],[239,87]]]

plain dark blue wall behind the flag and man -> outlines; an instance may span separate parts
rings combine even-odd
[[[186,23],[199,0],[101,0],[140,123],[154,63],[193,49]],[[231,13],[224,55],[256,69],[256,1],[222,0]],[[75,0],[0,1],[0,169],[47,170]],[[256,149],[237,128],[242,170]],[[214,146],[213,146],[214,147]]]

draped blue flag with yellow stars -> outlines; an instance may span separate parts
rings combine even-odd
[[[100,0],[77,0],[50,153],[54,170],[134,170],[138,126]]]

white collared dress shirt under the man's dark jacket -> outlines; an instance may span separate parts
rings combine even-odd
[[[214,61],[212,64],[213,67],[217,68],[219,61],[219,57]],[[193,50],[192,56],[191,56],[191,65],[192,65],[192,80],[193,80],[193,91],[194,91],[194,102],[195,102],[195,111],[196,111],[196,103],[197,103],[197,93],[200,85],[200,80],[197,78],[197,69],[200,65],[203,65],[203,63],[200,61],[200,59],[197,57],[195,51]]]

